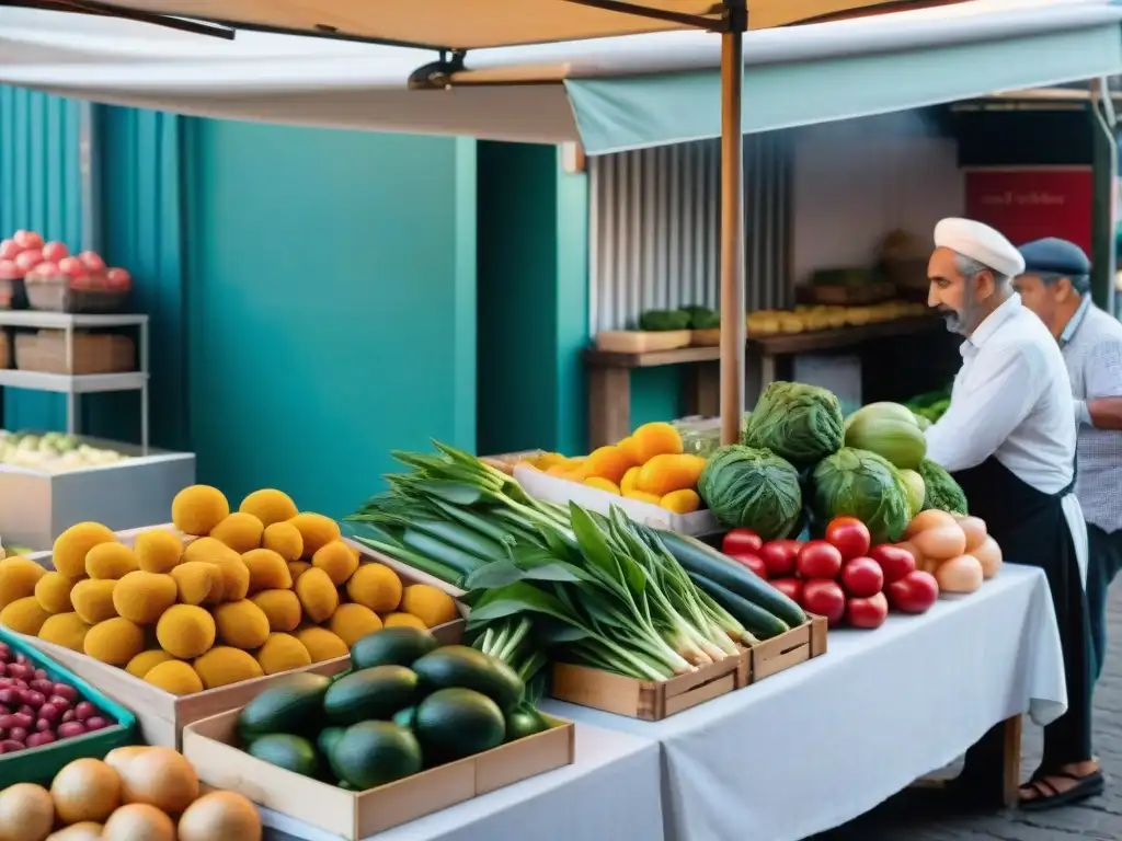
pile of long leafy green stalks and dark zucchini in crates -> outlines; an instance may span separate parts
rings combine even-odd
[[[395,453],[413,468],[348,519],[357,539],[469,592],[473,645],[533,681],[545,654],[664,680],[806,621],[790,599],[699,542],[528,497],[454,447]],[[699,584],[706,584],[700,588]]]

